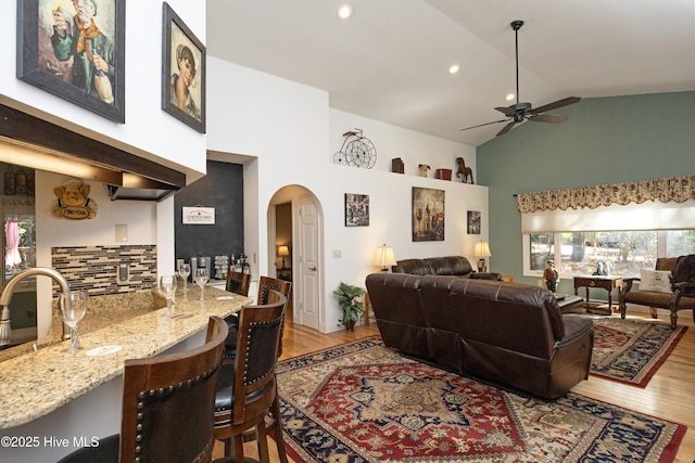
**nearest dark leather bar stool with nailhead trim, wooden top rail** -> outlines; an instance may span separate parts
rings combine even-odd
[[[227,324],[211,317],[206,343],[125,361],[121,434],[59,463],[212,461],[215,395]]]

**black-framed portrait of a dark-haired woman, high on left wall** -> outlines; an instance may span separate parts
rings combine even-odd
[[[164,3],[162,110],[205,133],[205,47]]]

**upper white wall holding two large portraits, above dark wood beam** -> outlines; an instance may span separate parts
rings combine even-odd
[[[74,11],[67,0],[67,11]],[[168,0],[195,36],[205,39],[205,2]],[[205,134],[162,111],[162,2],[126,8],[125,124],[117,124],[16,77],[16,1],[3,2],[0,37],[10,54],[0,66],[0,102],[111,145],[181,168],[189,182],[205,171]],[[97,21],[99,15],[97,15]],[[176,136],[172,136],[175,133]]]

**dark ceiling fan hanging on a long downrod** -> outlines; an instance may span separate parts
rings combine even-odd
[[[500,132],[497,137],[507,133],[514,126],[525,120],[531,120],[533,123],[554,123],[559,124],[567,120],[567,116],[558,116],[555,114],[543,114],[546,111],[556,110],[558,107],[567,106],[578,103],[581,99],[578,97],[568,97],[563,100],[558,100],[553,103],[545,104],[541,107],[533,108],[531,103],[519,102],[519,29],[523,26],[523,21],[514,21],[510,24],[515,34],[516,44],[516,59],[517,59],[517,102],[511,106],[495,107],[498,112],[504,114],[507,118],[493,120],[492,123],[480,124],[478,126],[466,127],[462,130],[475,129],[477,127],[489,126],[491,124],[509,123]]]

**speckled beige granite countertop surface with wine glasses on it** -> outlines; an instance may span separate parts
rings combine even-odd
[[[31,343],[8,349],[23,350],[0,361],[0,428],[52,412],[123,374],[126,359],[161,353],[205,329],[211,316],[227,317],[252,301],[214,287],[206,287],[205,300],[200,301],[200,288],[189,285],[188,293],[177,291],[175,316],[167,317],[165,300],[153,292],[142,293],[137,303],[129,299],[127,305],[123,304],[127,296],[102,296],[103,300],[92,303],[78,324],[83,348],[77,351],[65,351],[71,342],[59,340],[62,330],[58,320],[49,336],[36,343],[38,350]],[[119,349],[110,352],[110,346]],[[93,355],[104,351],[109,353]]]

